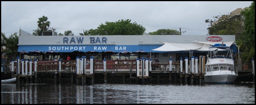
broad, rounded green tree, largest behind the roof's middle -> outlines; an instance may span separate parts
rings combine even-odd
[[[131,20],[118,20],[116,22],[105,22],[97,29],[90,29],[89,35],[142,35],[145,28],[137,23],[130,23]]]

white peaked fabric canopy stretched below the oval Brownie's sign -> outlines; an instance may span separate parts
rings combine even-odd
[[[195,43],[170,43],[170,42],[162,42],[164,45],[158,47],[157,49],[153,49],[153,51],[208,51],[209,47],[214,44],[221,44],[222,42],[203,42],[203,41],[193,41]],[[231,46],[234,41],[226,41],[223,42],[226,46]],[[220,49],[221,51],[221,49]]]

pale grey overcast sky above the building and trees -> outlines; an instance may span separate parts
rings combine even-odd
[[[206,19],[227,15],[237,8],[249,7],[243,2],[18,2],[1,1],[1,32],[6,36],[22,29],[33,33],[43,15],[50,27],[64,34],[78,36],[83,30],[96,29],[101,23],[130,19],[142,25],[146,33],[159,29],[178,30],[182,35],[206,35]]]

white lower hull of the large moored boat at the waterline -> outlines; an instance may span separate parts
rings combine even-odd
[[[204,75],[204,83],[234,83],[238,75]]]

